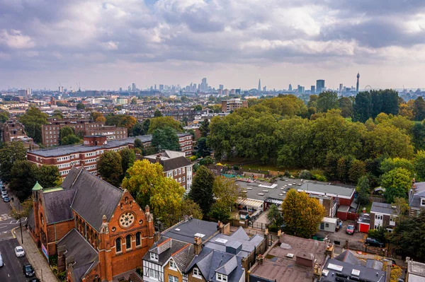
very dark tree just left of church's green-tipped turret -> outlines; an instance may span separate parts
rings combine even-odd
[[[37,181],[36,168],[37,166],[28,160],[17,160],[14,163],[8,187],[18,197],[19,201],[24,201],[31,195],[31,189]]]

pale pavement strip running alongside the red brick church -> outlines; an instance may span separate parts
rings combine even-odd
[[[15,235],[16,239],[18,239],[18,241],[21,242],[21,232],[19,232],[19,228],[16,228],[15,230],[13,230],[13,235]],[[25,249],[26,257],[28,258],[28,261],[35,269],[35,274],[37,274],[37,277],[40,278],[40,281],[42,282],[59,281],[57,280],[55,274],[53,274],[49,264],[47,264],[47,260],[41,254],[37,245],[35,245],[33,238],[30,237],[30,234],[28,233],[28,231],[23,230],[22,235],[23,235],[23,244],[21,245],[23,249]]]

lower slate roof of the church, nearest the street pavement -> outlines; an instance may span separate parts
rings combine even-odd
[[[67,258],[74,257],[74,276],[77,281],[81,281],[86,271],[98,262],[98,252],[75,228],[57,242],[57,247],[62,246],[67,249],[65,254]]]

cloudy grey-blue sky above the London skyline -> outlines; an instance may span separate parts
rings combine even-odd
[[[424,0],[0,0],[0,89],[425,87]]]

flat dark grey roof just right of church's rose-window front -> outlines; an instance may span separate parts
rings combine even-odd
[[[179,230],[176,230],[179,229]],[[202,234],[202,242],[205,242],[217,232],[217,223],[210,221],[200,221],[196,218],[191,218],[188,221],[183,221],[165,230],[162,233],[165,237],[170,237],[183,242],[193,243],[196,233]]]

